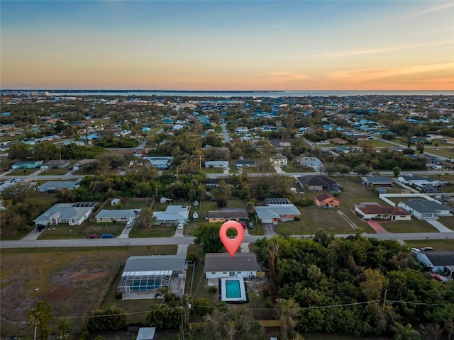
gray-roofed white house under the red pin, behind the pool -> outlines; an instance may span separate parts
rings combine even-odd
[[[255,253],[206,253],[204,271],[206,279],[256,278],[260,265]]]

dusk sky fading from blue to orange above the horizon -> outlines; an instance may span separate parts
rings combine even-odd
[[[454,90],[454,1],[0,1],[1,89]]]

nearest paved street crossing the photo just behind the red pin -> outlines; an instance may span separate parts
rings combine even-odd
[[[347,237],[350,234],[338,234],[338,237]],[[404,234],[363,234],[365,237],[377,239],[454,239],[454,232],[412,232]],[[254,243],[263,236],[245,235],[244,243]],[[295,235],[295,237],[314,237],[314,235]],[[0,241],[0,249],[6,248],[64,248],[82,246],[163,246],[167,244],[194,244],[194,237],[155,237],[138,239],[21,239],[18,241]]]

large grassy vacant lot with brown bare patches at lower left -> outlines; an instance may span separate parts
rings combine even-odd
[[[150,251],[176,254],[177,246],[153,246]],[[39,300],[48,302],[55,316],[69,317],[72,333],[80,330],[83,319],[79,317],[100,307],[104,293],[106,301],[114,296],[109,292],[112,287],[116,291],[114,279],[122,271],[121,264],[130,256],[150,251],[146,246],[1,249],[1,314],[16,321],[1,320],[1,336],[20,334],[22,339],[32,339],[33,327],[22,327],[22,322]],[[123,307],[120,300],[115,304]],[[148,302],[143,311],[149,306]],[[143,306],[136,302],[132,307]],[[52,329],[58,319],[54,321]]]

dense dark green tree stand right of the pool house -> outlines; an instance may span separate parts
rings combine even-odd
[[[301,334],[389,334],[394,322],[454,332],[454,283],[423,273],[397,241],[359,233],[335,238],[321,229],[314,239],[273,237],[256,244],[270,276],[271,299],[292,298],[301,307],[296,325]]]

